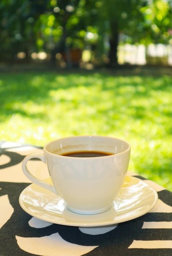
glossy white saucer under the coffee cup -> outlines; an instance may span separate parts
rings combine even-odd
[[[46,181],[50,182],[50,179]],[[104,213],[73,213],[67,209],[61,197],[36,184],[31,184],[22,191],[19,203],[24,211],[40,220],[67,226],[99,227],[138,218],[150,211],[157,200],[157,192],[148,184],[135,177],[126,176],[117,198]]]

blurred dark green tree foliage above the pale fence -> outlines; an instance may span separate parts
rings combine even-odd
[[[0,61],[90,47],[113,64],[119,43],[172,44],[172,1],[1,0],[0,35]]]

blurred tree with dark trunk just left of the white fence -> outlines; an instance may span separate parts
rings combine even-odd
[[[106,24],[107,27],[110,65],[118,65],[117,53],[120,34],[125,34],[130,38],[134,38],[137,34],[138,22],[142,21],[139,9],[144,4],[143,0],[102,0],[101,18],[99,17],[99,19],[104,23],[102,26],[105,27]]]

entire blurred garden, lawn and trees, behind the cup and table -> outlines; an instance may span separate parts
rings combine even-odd
[[[0,140],[131,143],[172,191],[172,0],[1,0]]]

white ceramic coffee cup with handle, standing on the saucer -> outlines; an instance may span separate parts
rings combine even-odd
[[[64,156],[66,153],[82,151],[98,151],[109,155]],[[27,155],[22,169],[32,182],[63,198],[71,211],[97,214],[107,211],[120,191],[127,173],[130,151],[130,144],[118,138],[65,137],[46,144],[44,154]],[[28,171],[26,164],[32,158],[39,158],[47,164],[53,185],[39,180]]]

